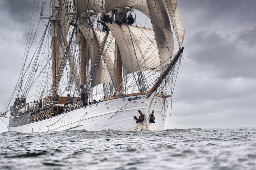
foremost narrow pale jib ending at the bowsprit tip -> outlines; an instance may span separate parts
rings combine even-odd
[[[179,41],[179,45],[182,46],[183,44],[183,40],[184,40],[184,35],[185,35],[185,29],[184,29],[184,25],[183,25],[183,21],[181,19],[180,13],[179,13],[179,8],[178,6],[176,7],[175,12],[172,11],[172,8],[168,7],[172,22],[173,22],[173,26],[174,26],[174,30],[175,33],[177,35],[178,41]]]

